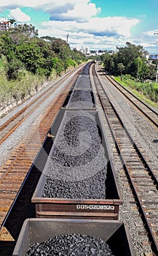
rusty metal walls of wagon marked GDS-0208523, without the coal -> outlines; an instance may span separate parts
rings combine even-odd
[[[58,116],[53,122],[51,130],[55,132],[55,139],[58,140],[58,129],[62,123],[66,113],[71,110],[60,110]],[[38,217],[56,217],[56,216],[83,216],[85,218],[103,217],[106,219],[118,219],[119,217],[119,205],[122,205],[122,197],[119,192],[119,187],[114,174],[113,165],[108,155],[106,137],[103,132],[103,124],[100,122],[98,111],[88,111],[97,120],[97,124],[100,127],[102,146],[105,149],[106,159],[109,159],[106,174],[106,199],[68,199],[68,198],[48,198],[42,197],[42,191],[47,178],[47,168],[50,162],[48,157],[47,162],[42,171],[42,176],[39,179],[39,183],[33,193],[32,203],[36,205],[36,216]],[[62,125],[62,124],[61,124]],[[54,135],[54,133],[53,133]],[[50,151],[50,156],[54,149],[55,142]],[[40,157],[40,155],[39,155]]]

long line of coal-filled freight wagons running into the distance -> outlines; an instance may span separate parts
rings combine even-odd
[[[134,256],[127,225],[118,221],[123,201],[90,83],[91,64],[85,65],[68,93],[34,161],[42,171],[32,197],[36,218],[25,220],[14,256],[25,255],[31,244],[44,250],[44,244],[60,241],[51,245],[59,248],[63,239],[70,248],[63,252],[62,242],[58,255],[69,255],[73,248],[74,255],[105,256],[107,250],[108,255]],[[82,241],[78,249],[76,239]],[[100,239],[106,243],[103,252]],[[80,252],[83,245],[85,252]],[[33,254],[36,249],[31,247]]]

